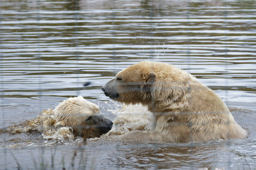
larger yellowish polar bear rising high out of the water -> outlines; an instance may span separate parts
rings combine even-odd
[[[102,87],[111,99],[141,103],[155,116],[155,129],[130,131],[122,139],[184,143],[245,138],[219,96],[175,66],[143,61],[117,73]]]

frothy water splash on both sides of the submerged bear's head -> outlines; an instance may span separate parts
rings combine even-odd
[[[132,130],[152,131],[155,126],[155,118],[146,107],[141,104],[136,105],[119,105],[114,104],[108,107],[109,112],[115,115],[113,128],[101,138],[112,138],[117,135],[128,133]],[[9,126],[6,131],[11,134],[32,133],[33,131],[41,133],[43,142],[46,146],[53,145],[69,145],[76,142],[82,142],[82,138],[73,135],[73,129],[70,127],[56,128],[54,126],[56,119],[51,108],[44,110],[36,118],[27,120],[18,125]],[[101,138],[88,139],[89,141],[97,141]]]

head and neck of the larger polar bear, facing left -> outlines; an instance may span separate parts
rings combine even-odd
[[[106,96],[125,103],[170,105],[180,101],[196,82],[191,74],[162,62],[143,61],[117,73],[102,87]],[[164,102],[163,102],[164,101]]]

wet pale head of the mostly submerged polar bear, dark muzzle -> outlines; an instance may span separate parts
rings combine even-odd
[[[71,97],[53,110],[55,127],[67,126],[74,135],[84,139],[100,137],[112,129],[113,122],[100,112],[100,108],[84,97]]]

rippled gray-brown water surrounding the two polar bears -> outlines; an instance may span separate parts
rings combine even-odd
[[[195,75],[249,131],[229,141],[51,146],[36,131],[1,133],[0,169],[256,168],[255,1],[1,0],[0,8],[1,129],[77,95],[114,120],[101,87],[151,60]]]

